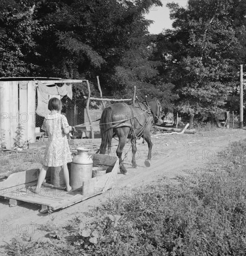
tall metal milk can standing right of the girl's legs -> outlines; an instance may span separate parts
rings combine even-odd
[[[90,149],[76,148],[78,155],[73,157],[71,163],[70,185],[72,189],[82,187],[83,182],[92,178],[93,160],[91,155],[88,155]]]

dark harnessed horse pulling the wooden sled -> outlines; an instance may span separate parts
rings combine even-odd
[[[150,166],[152,142],[150,139],[150,130],[153,122],[159,122],[161,114],[161,105],[157,99],[150,101],[137,102],[134,105],[125,103],[113,103],[102,112],[100,119],[101,145],[100,154],[106,153],[106,148],[110,150],[113,136],[119,138],[119,145],[116,154],[120,159],[120,172],[126,174],[126,168],[122,162],[122,151],[127,139],[131,139],[133,159],[133,168],[137,167],[135,154],[137,151],[136,140],[140,137],[148,143],[148,157],[145,165]],[[123,159],[124,160],[124,159]]]

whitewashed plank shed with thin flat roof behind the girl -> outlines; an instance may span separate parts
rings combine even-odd
[[[35,142],[36,88],[39,84],[81,83],[50,77],[0,78],[0,143],[7,149],[14,146],[18,132],[21,140]],[[88,82],[88,81],[87,81]]]

